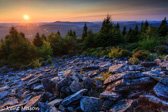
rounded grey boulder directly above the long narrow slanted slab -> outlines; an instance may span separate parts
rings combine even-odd
[[[73,81],[72,84],[69,87],[70,87],[71,91],[73,93],[75,93],[75,92],[82,89],[82,84],[80,82]]]

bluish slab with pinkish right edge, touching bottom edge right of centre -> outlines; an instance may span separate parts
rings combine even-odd
[[[120,100],[111,109],[110,112],[125,112],[131,107],[133,100]]]

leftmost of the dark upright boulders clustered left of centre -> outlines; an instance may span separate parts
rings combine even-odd
[[[54,93],[56,91],[56,84],[51,81],[49,78],[44,78],[42,81],[44,89],[50,93]]]

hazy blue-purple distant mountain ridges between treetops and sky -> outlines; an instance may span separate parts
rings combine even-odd
[[[136,24],[138,27],[141,27],[142,21],[114,21],[114,24],[119,23],[120,29],[122,30],[124,26],[129,28],[135,28]],[[152,26],[159,26],[161,21],[148,21]],[[82,35],[82,29],[84,24],[87,24],[88,29],[92,29],[93,32],[100,31],[102,22],[69,22],[69,21],[55,21],[50,23],[0,23],[0,38],[4,38],[9,31],[11,26],[15,26],[18,31],[24,32],[26,37],[33,39],[34,35],[39,32],[40,34],[44,33],[49,35],[50,33],[55,33],[58,30],[61,32],[62,36],[65,36],[67,32],[71,29],[76,31],[78,37]]]

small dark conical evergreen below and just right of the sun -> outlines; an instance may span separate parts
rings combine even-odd
[[[43,39],[40,37],[39,33],[37,33],[35,38],[33,39],[33,44],[36,47],[41,47],[43,45]]]

